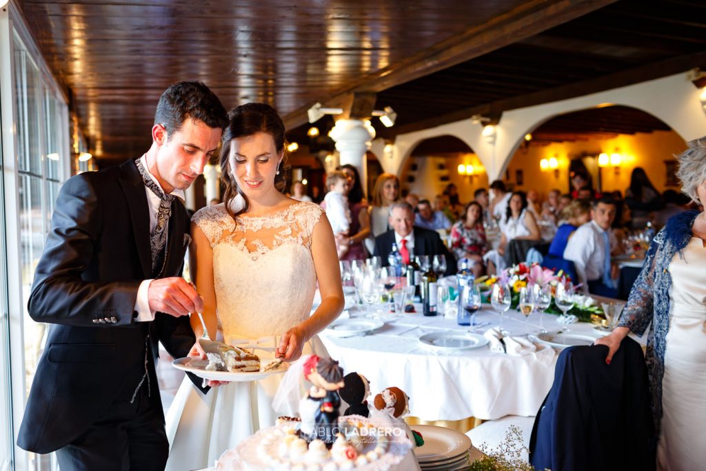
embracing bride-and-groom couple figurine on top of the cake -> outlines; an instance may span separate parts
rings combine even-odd
[[[301,434],[308,441],[319,439],[330,447],[338,432],[338,409],[341,406],[338,390],[344,385],[343,369],[333,359],[311,355],[304,363],[304,378],[313,386],[299,407]]]

